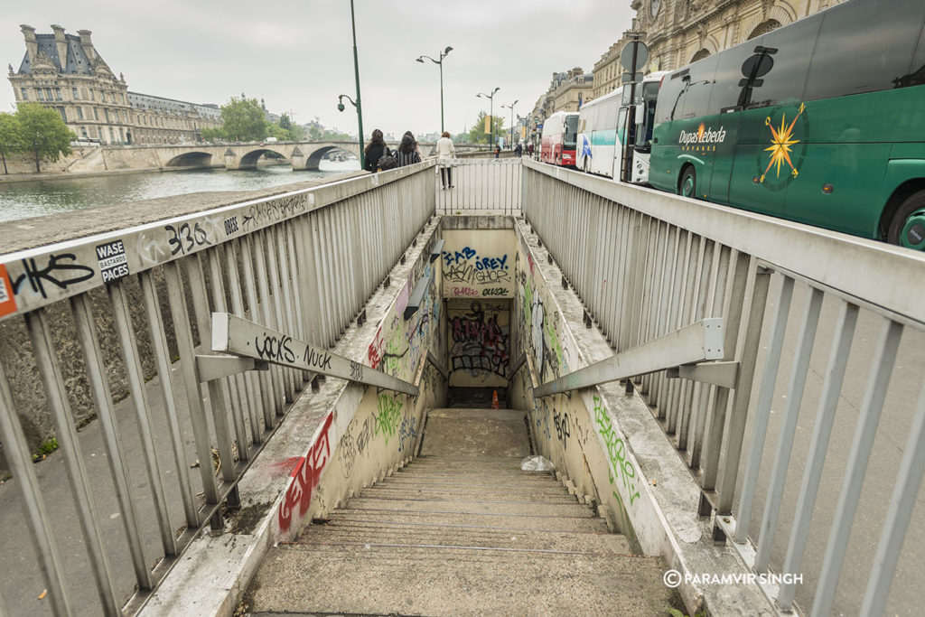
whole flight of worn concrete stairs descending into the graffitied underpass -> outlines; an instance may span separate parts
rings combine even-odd
[[[523,412],[432,411],[419,458],[270,550],[246,609],[660,615],[680,606],[659,559],[630,554],[555,475],[520,470],[528,449]]]

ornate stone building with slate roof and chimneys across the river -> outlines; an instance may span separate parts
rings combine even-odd
[[[36,34],[21,26],[26,56],[19,70],[9,67],[18,103],[52,107],[80,140],[102,143],[195,142],[202,130],[220,127],[217,105],[196,105],[149,94],[129,93],[93,47],[91,32]]]

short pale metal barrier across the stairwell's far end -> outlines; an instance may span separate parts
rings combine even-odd
[[[520,158],[454,159],[446,170],[453,188],[444,189],[437,169],[437,212],[441,215],[519,215],[522,173]]]

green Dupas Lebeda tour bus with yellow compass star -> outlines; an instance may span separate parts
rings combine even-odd
[[[923,24],[847,0],[665,75],[649,182],[925,249]]]

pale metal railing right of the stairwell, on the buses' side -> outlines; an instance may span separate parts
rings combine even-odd
[[[724,362],[630,388],[715,537],[790,576],[762,584],[777,606],[902,612],[894,575],[894,601],[922,584],[904,537],[925,525],[925,255],[532,161],[524,216],[615,350],[724,319]]]

